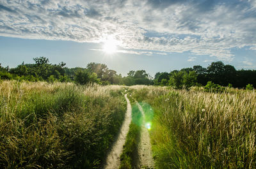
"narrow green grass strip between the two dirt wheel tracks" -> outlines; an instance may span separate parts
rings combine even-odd
[[[132,104],[132,121],[126,137],[124,150],[121,154],[120,169],[136,168],[138,161],[138,143],[140,140],[142,114],[135,103]]]

